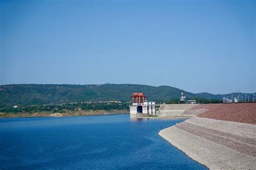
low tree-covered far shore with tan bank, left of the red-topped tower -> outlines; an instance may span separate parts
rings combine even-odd
[[[16,105],[15,107],[0,107],[0,117],[46,117],[85,116],[119,114],[129,112],[130,103],[117,102],[92,102],[92,103],[65,103],[43,105]]]

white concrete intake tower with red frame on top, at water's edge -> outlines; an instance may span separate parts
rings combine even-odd
[[[145,96],[143,93],[133,93],[132,105],[130,105],[130,117],[136,118],[137,114],[145,115],[156,115],[156,102],[145,101]],[[136,102],[134,101],[136,100]]]

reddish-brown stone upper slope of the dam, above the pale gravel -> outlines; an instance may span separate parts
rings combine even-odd
[[[199,104],[192,109],[206,108],[199,117],[256,124],[256,103]]]

